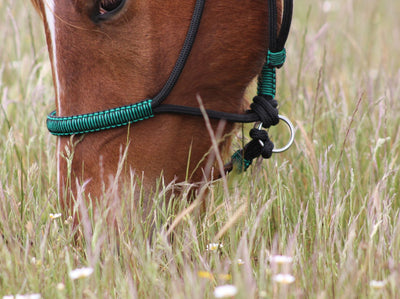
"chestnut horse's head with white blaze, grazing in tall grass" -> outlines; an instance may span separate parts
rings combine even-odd
[[[184,43],[195,0],[31,0],[44,24],[56,114],[73,116],[131,105],[162,89]],[[276,0],[278,26],[283,4]],[[268,49],[267,0],[207,1],[186,65],[166,104],[244,113],[245,91]],[[218,120],[209,125],[216,131]],[[57,137],[57,183],[64,209],[74,194],[100,198],[124,159],[147,191],[166,182],[201,182],[212,140],[201,117],[160,114],[110,130]],[[235,125],[227,122],[223,136]],[[229,148],[230,138],[219,144]],[[126,149],[126,151],[124,151]],[[72,158],[73,156],[73,158]],[[69,159],[70,157],[71,159]],[[189,174],[189,175],[188,175]],[[72,191],[71,191],[72,190]],[[75,190],[75,191],[74,191]],[[75,194],[76,195],[76,194]]]

